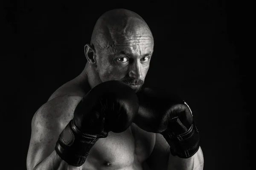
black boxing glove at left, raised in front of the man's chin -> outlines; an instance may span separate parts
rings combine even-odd
[[[109,131],[125,131],[138,109],[138,98],[128,85],[115,80],[97,85],[77,105],[74,118],[59,135],[56,153],[68,164],[81,166],[96,141]]]

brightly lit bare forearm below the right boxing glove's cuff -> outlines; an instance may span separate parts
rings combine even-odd
[[[167,170],[203,170],[204,156],[199,147],[198,151],[190,158],[184,159],[172,156],[170,153]]]

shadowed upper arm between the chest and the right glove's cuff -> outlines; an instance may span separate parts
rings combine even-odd
[[[169,161],[169,144],[166,142],[164,137],[156,133],[156,141],[154,149],[146,160],[151,170],[167,170]]]

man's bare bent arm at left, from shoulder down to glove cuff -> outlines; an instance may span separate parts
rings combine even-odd
[[[55,152],[58,136],[73,118],[79,96],[57,97],[47,102],[32,119],[27,170],[81,170],[63,161]]]

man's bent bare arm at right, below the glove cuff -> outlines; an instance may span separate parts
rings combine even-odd
[[[188,159],[172,156],[166,139],[156,133],[156,143],[147,164],[151,170],[203,170],[204,156],[201,147]]]

